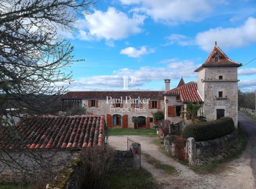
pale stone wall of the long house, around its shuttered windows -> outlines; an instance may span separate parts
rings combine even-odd
[[[153,99],[151,99],[151,100],[153,100]],[[142,109],[134,108],[131,111],[128,111],[129,108],[131,109],[131,100],[127,100],[127,103],[126,103],[126,100],[123,100],[123,110],[124,110],[123,112],[119,111],[120,108],[112,109],[111,108],[111,106],[112,106],[111,101],[109,101],[109,103],[107,103],[106,99],[99,99],[97,108],[96,107],[88,108],[88,99],[83,99],[82,100],[82,106],[86,106],[86,110],[89,113],[105,115],[105,117],[107,117],[107,114],[110,114],[112,116],[114,114],[119,114],[121,116],[128,115],[128,128],[134,128],[134,123],[132,122],[132,117],[133,116],[136,116],[136,117],[143,116],[143,117],[146,117],[146,118],[147,117],[153,118],[152,113],[159,110],[157,108],[149,109],[148,104],[144,103],[144,104],[142,104],[142,107],[141,107]],[[160,100],[160,110],[164,111],[164,100]],[[155,124],[153,122],[150,122],[150,128],[153,128],[154,125]]]

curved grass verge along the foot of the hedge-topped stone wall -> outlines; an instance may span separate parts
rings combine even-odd
[[[245,133],[242,131],[242,129],[238,128],[238,140],[241,142],[240,147],[237,147],[237,145],[234,145],[234,147],[232,147],[230,150],[228,150],[229,152],[229,156],[227,156],[224,159],[220,159],[217,161],[213,161],[211,163],[208,164],[204,164],[203,166],[193,166],[193,165],[189,165],[188,162],[186,161],[181,161],[178,158],[176,158],[175,156],[172,156],[172,154],[168,153],[165,148],[164,148],[164,144],[161,144],[160,140],[154,140],[153,143],[155,145],[158,145],[159,150],[164,153],[166,156],[169,156],[171,158],[174,158],[175,160],[177,160],[179,163],[186,165],[187,167],[189,167],[191,170],[194,170],[195,172],[198,173],[207,173],[207,172],[211,172],[213,171],[215,168],[220,167],[223,163],[225,162],[229,162],[234,160],[235,158],[239,158],[243,151],[246,148],[247,145],[247,137],[245,136]]]

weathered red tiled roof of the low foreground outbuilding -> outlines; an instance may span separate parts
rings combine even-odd
[[[0,149],[68,150],[101,146],[104,144],[105,127],[104,116],[28,117],[17,125],[17,132],[23,139],[5,128]]]

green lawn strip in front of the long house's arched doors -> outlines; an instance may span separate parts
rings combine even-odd
[[[134,129],[134,128],[109,128],[109,136],[117,135],[139,135],[139,136],[157,136],[154,129]]]

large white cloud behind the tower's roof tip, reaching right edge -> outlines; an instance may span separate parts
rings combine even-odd
[[[210,51],[217,44],[224,48],[245,47],[256,42],[256,19],[249,17],[245,24],[237,28],[214,28],[200,32],[195,37],[195,42],[203,50]]]

